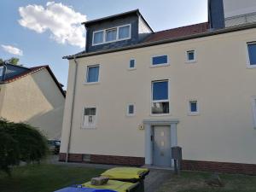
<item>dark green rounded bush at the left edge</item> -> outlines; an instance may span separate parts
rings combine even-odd
[[[11,166],[21,161],[39,162],[48,152],[46,138],[24,123],[0,119],[0,170],[10,175]]]

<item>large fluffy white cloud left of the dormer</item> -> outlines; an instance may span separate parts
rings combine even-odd
[[[50,38],[60,44],[71,44],[83,48],[85,46],[84,26],[81,22],[86,15],[75,12],[72,7],[62,3],[48,2],[42,5],[29,4],[19,8],[21,26],[42,33],[49,30]]]

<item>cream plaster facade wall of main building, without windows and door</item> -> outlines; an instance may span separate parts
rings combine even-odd
[[[69,141],[70,154],[145,157],[143,120],[177,119],[184,160],[256,164],[256,68],[247,67],[247,42],[255,40],[256,29],[248,29],[78,58],[75,92],[76,64],[70,60],[61,153],[67,153]],[[196,61],[187,63],[191,49]],[[153,55],[168,55],[169,65],[151,67]],[[135,70],[128,70],[131,58]],[[99,83],[84,84],[87,66],[95,64],[100,64]],[[151,82],[162,79],[169,79],[171,113],[155,116]],[[189,115],[190,100],[198,101],[198,115]],[[134,116],[126,116],[128,103],[135,103]],[[84,107],[96,107],[95,129],[82,128]]]

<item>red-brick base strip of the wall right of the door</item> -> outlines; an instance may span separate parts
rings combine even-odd
[[[224,163],[200,160],[183,160],[182,169],[191,171],[241,173],[248,175],[256,174],[255,164]]]

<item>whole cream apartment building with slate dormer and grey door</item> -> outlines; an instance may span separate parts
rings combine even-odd
[[[256,173],[256,23],[225,28],[219,3],[162,32],[138,10],[85,22],[86,49],[64,57],[60,160],[173,166],[178,145],[183,169]]]

